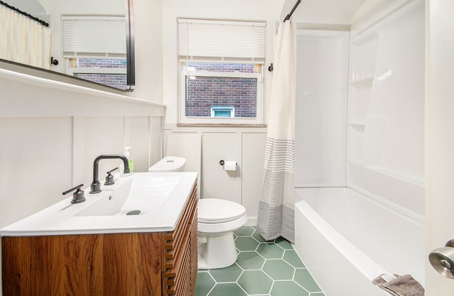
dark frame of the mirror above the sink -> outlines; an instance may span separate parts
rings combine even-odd
[[[65,82],[83,87],[89,86],[92,89],[106,90],[110,92],[133,92],[135,89],[135,33],[134,33],[134,5],[133,0],[125,1],[125,18],[126,18],[126,89],[110,87],[106,84],[84,80],[79,77],[67,75],[65,73],[46,70],[40,67],[12,62],[10,60],[0,59],[0,67],[14,72],[21,72],[26,75]]]

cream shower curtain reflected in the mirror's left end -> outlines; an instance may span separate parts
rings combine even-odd
[[[0,5],[0,58],[50,69],[50,28]]]

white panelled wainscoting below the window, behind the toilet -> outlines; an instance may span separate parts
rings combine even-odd
[[[169,148],[167,136],[172,134],[182,148]],[[176,128],[165,126],[165,155],[191,158],[186,151],[194,151],[192,141],[186,141],[185,135],[201,136],[201,151],[193,152],[194,158],[201,153],[200,196],[202,198],[220,198],[243,204],[248,212],[248,225],[257,225],[258,203],[262,187],[263,162],[265,160],[266,132],[263,128]],[[180,137],[182,136],[182,137]],[[219,164],[220,160],[236,160],[237,170],[226,171]],[[194,166],[192,166],[194,168]],[[187,170],[190,170],[187,168]]]

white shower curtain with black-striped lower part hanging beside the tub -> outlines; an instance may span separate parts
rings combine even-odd
[[[267,241],[294,242],[294,139],[297,96],[297,28],[279,26],[268,116],[258,231]]]

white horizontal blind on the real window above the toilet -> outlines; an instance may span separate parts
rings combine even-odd
[[[265,62],[265,23],[179,18],[180,61]]]

